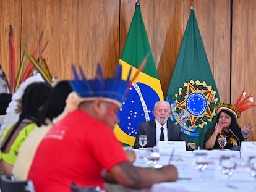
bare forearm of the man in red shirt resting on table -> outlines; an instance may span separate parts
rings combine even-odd
[[[114,166],[106,175],[107,182],[116,182],[130,188],[145,188],[160,182],[174,182],[178,178],[176,167],[164,166],[160,169],[134,167],[130,162]]]

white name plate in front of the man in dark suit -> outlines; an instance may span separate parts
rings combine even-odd
[[[158,141],[158,149],[160,152],[186,151],[185,141]]]

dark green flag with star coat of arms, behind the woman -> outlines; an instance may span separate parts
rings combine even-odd
[[[202,148],[207,129],[215,123],[219,94],[193,7],[166,100],[171,104],[170,119],[181,126],[185,140]]]

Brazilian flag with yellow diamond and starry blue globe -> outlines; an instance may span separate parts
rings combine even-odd
[[[136,3],[126,43],[119,60],[123,71],[128,73],[132,67],[132,72],[137,72],[140,63],[148,53],[150,55],[147,64],[130,87],[129,95],[119,111],[119,123],[114,128],[117,139],[129,146],[134,146],[139,123],[154,119],[152,113],[154,104],[156,101],[163,100],[163,91],[148,43],[140,4]],[[124,77],[127,77],[127,73],[124,73]]]

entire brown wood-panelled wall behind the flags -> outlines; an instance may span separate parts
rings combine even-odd
[[[164,97],[186,28],[190,0],[140,0]],[[236,101],[242,89],[256,95],[256,1],[194,0],[195,15],[221,102]],[[232,7],[232,9],[231,9]],[[40,50],[49,69],[61,79],[72,78],[71,65],[82,65],[93,77],[101,62],[105,76],[113,69],[134,14],[132,0],[2,0],[0,1],[0,64],[9,72],[9,25],[14,28],[17,65],[31,30],[32,52],[43,31]],[[256,107],[255,107],[256,108]],[[256,126],[256,109],[239,119]],[[256,130],[250,134],[256,140]]]

